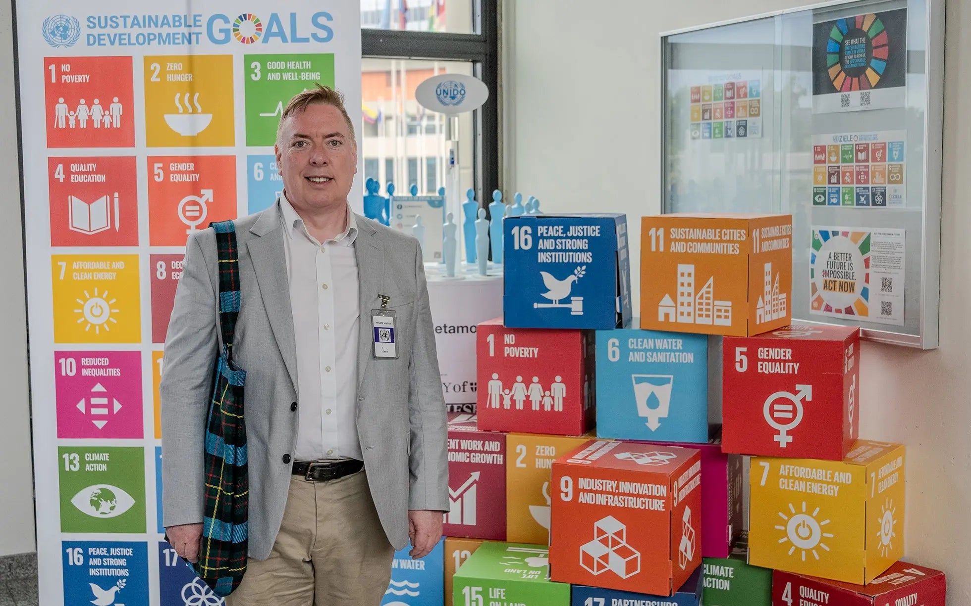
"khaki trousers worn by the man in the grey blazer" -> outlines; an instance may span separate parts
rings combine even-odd
[[[330,482],[293,476],[270,557],[247,561],[226,605],[378,606],[393,557],[365,471]]]

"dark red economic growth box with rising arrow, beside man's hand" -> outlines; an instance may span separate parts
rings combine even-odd
[[[445,536],[506,539],[506,434],[475,415],[449,415],[449,505]]]

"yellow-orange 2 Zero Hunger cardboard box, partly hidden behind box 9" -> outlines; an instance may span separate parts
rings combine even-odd
[[[552,462],[590,437],[510,433],[506,436],[506,539],[550,544]]]

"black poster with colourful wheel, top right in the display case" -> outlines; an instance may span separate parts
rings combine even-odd
[[[906,104],[907,9],[813,25],[813,112]]]

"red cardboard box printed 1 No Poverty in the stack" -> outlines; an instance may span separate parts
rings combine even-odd
[[[593,426],[593,333],[508,329],[476,332],[476,411],[485,431],[583,435]]]

